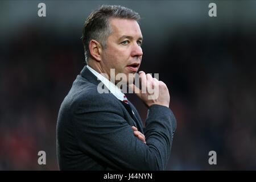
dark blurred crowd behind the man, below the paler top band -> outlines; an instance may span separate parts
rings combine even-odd
[[[57,114],[85,65],[79,36],[27,25],[1,44],[1,170],[58,169]],[[159,73],[171,93],[177,130],[167,169],[256,169],[256,28],[182,27],[166,39],[143,44],[141,70]],[[146,107],[128,98],[144,121]],[[41,150],[46,165],[38,164]],[[217,165],[208,163],[212,150]]]

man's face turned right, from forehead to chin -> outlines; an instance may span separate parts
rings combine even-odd
[[[110,76],[110,69],[118,73],[136,73],[142,60],[142,33],[136,20],[110,19],[112,34],[102,51],[102,68]],[[125,80],[123,80],[125,81]],[[119,82],[119,81],[116,81]],[[127,82],[127,81],[126,81]]]

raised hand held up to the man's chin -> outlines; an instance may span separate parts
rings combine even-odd
[[[158,81],[156,78],[152,78],[150,74],[146,75],[143,71],[139,72],[139,80],[141,81],[142,89],[139,89],[134,84],[130,84],[129,87],[132,87],[133,92],[141,98],[144,104],[148,107],[154,104],[169,107],[170,94],[163,81]]]

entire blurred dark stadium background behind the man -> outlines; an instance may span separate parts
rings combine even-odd
[[[166,82],[177,118],[167,169],[255,170],[256,1],[1,1],[0,169],[58,170],[57,114],[85,65],[84,21],[103,4],[142,16],[140,69]]]

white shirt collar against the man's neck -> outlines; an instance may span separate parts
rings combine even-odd
[[[113,82],[109,81],[106,77],[102,76],[100,73],[95,71],[93,68],[86,65],[86,67],[89,69],[90,72],[95,75],[98,80],[100,80],[108,89],[109,91],[120,101],[123,101],[123,96],[125,94],[122,93],[121,89],[119,89]]]

